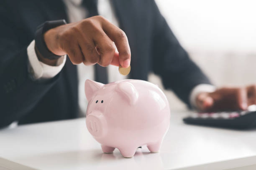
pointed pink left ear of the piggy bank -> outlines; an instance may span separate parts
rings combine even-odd
[[[92,98],[92,95],[103,86],[104,84],[100,82],[95,82],[87,79],[84,84],[84,91],[87,100],[89,101]]]

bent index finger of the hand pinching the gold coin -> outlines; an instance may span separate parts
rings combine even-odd
[[[102,22],[102,29],[115,42],[119,52],[119,62],[122,67],[129,67],[131,63],[131,50],[125,32],[105,20]]]

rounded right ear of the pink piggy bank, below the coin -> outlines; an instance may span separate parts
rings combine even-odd
[[[118,83],[117,91],[123,95],[130,105],[134,105],[138,100],[138,91],[130,82]]]

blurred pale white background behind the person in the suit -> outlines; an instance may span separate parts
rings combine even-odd
[[[256,83],[255,0],[156,0],[181,45],[214,85]],[[160,85],[151,74],[149,81]],[[187,107],[165,91],[171,110]]]

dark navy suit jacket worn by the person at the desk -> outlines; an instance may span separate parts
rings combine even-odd
[[[189,93],[210,83],[189,59],[159,12],[154,0],[112,0],[120,28],[131,48],[132,79],[161,76],[189,105]],[[62,0],[1,0],[0,2],[0,127],[63,120],[78,116],[77,69],[69,59],[61,72],[46,81],[28,74],[27,47],[36,28],[46,20],[66,19]]]

